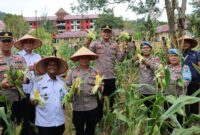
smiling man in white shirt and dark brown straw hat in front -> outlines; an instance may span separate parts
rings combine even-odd
[[[43,74],[35,79],[31,92],[31,102],[36,106],[38,135],[63,135],[65,116],[62,101],[67,87],[60,75],[67,69],[67,63],[57,57],[43,58],[36,64],[38,73]]]

